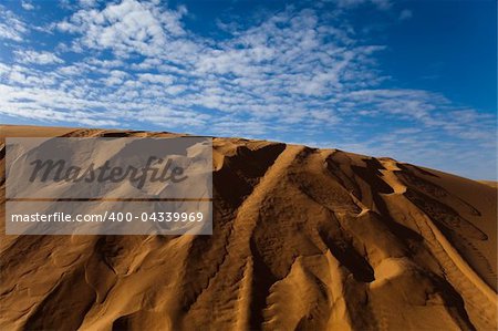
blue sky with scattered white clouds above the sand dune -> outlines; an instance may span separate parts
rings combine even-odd
[[[497,174],[496,1],[2,1],[0,121]]]

